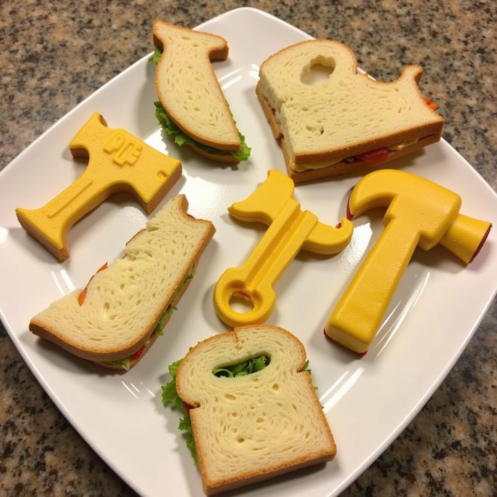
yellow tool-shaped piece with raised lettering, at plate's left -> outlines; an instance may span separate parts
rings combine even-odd
[[[67,234],[77,221],[117,192],[133,193],[147,214],[181,176],[181,163],[123,129],[107,127],[95,112],[69,144],[88,158],[84,173],[39,209],[17,208],[21,226],[60,261],[69,257]]]

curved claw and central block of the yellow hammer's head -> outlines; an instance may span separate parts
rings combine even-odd
[[[401,220],[420,234],[418,246],[434,247],[454,222],[461,197],[428,179],[405,171],[382,169],[364,176],[348,201],[352,216],[374,207],[388,207],[384,226]]]

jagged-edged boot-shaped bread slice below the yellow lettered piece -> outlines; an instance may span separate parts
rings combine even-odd
[[[30,331],[97,362],[139,350],[215,232],[210,221],[188,216],[187,207],[184,195],[169,200],[123,255],[93,276],[82,305],[75,290],[36,315]]]

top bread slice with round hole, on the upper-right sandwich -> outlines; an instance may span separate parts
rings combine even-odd
[[[316,65],[329,68],[330,77],[317,86],[304,83]],[[399,133],[407,133],[403,139],[409,140],[409,130],[443,122],[423,101],[417,87],[421,73],[421,68],[408,66],[396,81],[373,81],[357,74],[355,55],[345,45],[312,40],[267,59],[260,68],[260,83],[280,124],[291,167],[305,170],[343,160],[350,155],[347,149],[357,144],[385,139],[395,144]],[[328,154],[325,162],[316,160],[319,154]],[[306,158],[299,156],[308,156],[311,163],[304,167],[299,159]]]

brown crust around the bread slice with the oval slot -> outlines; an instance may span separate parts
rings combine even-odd
[[[261,328],[263,326],[264,328],[270,328],[274,331],[278,331],[281,333],[286,334],[288,337],[292,339],[292,341],[296,344],[296,346],[300,349],[300,362],[297,367],[297,371],[301,372],[304,368],[304,364],[306,361],[306,351],[304,348],[304,345],[300,342],[300,340],[295,337],[292,333],[289,331],[284,330],[283,328],[279,328],[277,326],[272,326],[272,325],[249,325],[249,326],[243,326],[243,327],[238,327],[235,328],[233,331],[228,331],[226,333],[218,334],[211,336],[207,338],[206,340],[203,340],[197,346],[195,346],[192,350],[190,350],[181,364],[179,365],[178,371],[177,371],[177,376],[176,376],[176,390],[178,392],[179,397],[181,400],[189,404],[190,406],[193,406],[193,408],[190,410],[189,415],[191,418],[191,423],[192,423],[192,428],[193,428],[193,436],[194,439],[199,440],[199,430],[201,429],[200,427],[200,421],[197,417],[198,411],[195,408],[200,407],[198,402],[196,402],[195,399],[190,398],[186,392],[182,388],[182,384],[180,381],[181,378],[181,371],[184,368],[189,367],[189,363],[191,361],[195,361],[195,355],[196,352],[198,351],[198,345],[200,344],[212,344],[215,341],[219,339],[226,339],[227,334],[233,334],[234,339],[238,341],[238,333],[240,331],[247,331],[250,329],[255,329],[255,328]],[[179,378],[179,381],[178,381]],[[311,466],[315,464],[320,464],[320,463],[325,463],[327,461],[331,461],[333,457],[336,454],[336,445],[334,443],[333,435],[331,433],[330,426],[328,425],[328,421],[326,419],[325,414],[323,413],[323,410],[321,408],[321,405],[319,403],[319,399],[316,396],[314,386],[312,384],[311,376],[306,375],[305,377],[306,380],[306,388],[309,389],[309,397],[313,399],[313,403],[315,405],[316,412],[319,413],[319,417],[321,420],[321,423],[323,424],[323,427],[325,428],[325,433],[326,433],[326,438],[329,443],[330,450],[322,450],[322,451],[316,451],[312,456],[307,456],[307,457],[294,457],[291,460],[289,460],[287,463],[284,464],[275,464],[272,466],[267,466],[264,468],[262,471],[245,471],[242,472],[241,474],[237,475],[236,477],[233,478],[226,478],[224,480],[217,480],[217,481],[210,481],[208,478],[208,474],[206,471],[206,458],[209,457],[209,447],[203,447],[201,444],[196,443],[196,450],[197,450],[197,455],[198,455],[198,461],[199,461],[199,469],[202,474],[202,482],[204,486],[204,492],[207,496],[212,496],[219,494],[221,492],[226,492],[229,490],[233,490],[242,486],[246,486],[252,483],[260,482],[263,480],[266,480],[268,478],[273,478],[279,475],[283,475],[285,473],[288,473],[290,471],[294,471],[296,469],[300,468],[305,468],[306,466]]]

